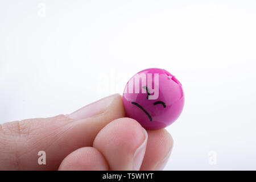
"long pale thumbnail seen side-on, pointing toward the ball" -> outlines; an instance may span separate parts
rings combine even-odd
[[[85,119],[103,113],[119,94],[113,94],[82,107],[79,110],[67,115],[71,119]]]

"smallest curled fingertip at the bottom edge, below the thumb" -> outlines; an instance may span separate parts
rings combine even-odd
[[[108,169],[104,156],[93,147],[82,147],[71,152],[59,167],[60,171],[106,171]]]

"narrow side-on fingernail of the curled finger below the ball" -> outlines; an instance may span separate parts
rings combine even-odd
[[[144,139],[143,143],[141,144],[141,146],[139,146],[137,148],[137,150],[134,152],[134,155],[133,155],[133,170],[134,171],[138,171],[141,168],[141,164],[142,164],[144,154],[146,151],[147,131],[145,129],[143,129],[143,130],[144,130],[145,139]]]

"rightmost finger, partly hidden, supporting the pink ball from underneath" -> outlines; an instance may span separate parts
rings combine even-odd
[[[174,141],[165,129],[148,130],[147,149],[141,170],[162,170],[166,165]]]

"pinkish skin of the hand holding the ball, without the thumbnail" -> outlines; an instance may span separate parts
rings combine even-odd
[[[3,123],[0,170],[161,170],[172,146],[165,129],[146,131],[125,118],[117,95],[86,118],[61,114]],[[46,165],[38,164],[39,151],[46,152]]]

